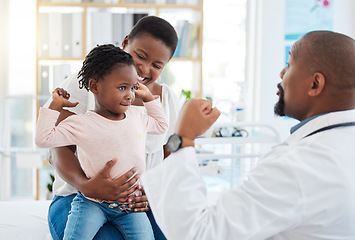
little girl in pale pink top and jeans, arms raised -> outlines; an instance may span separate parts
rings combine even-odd
[[[79,72],[80,87],[95,97],[95,108],[86,114],[73,115],[55,127],[63,107],[78,103],[68,101],[69,94],[57,88],[49,108],[41,108],[36,144],[40,147],[77,145],[80,165],[88,178],[95,176],[105,163],[117,158],[111,169],[115,179],[132,167],[142,174],[145,166],[147,133],[164,133],[168,125],[159,97],[155,98],[137,81],[133,58],[111,44],[94,48],[86,56]],[[142,99],[148,115],[130,105]],[[138,195],[138,191],[134,192]],[[64,239],[92,239],[107,221],[125,238],[154,239],[147,215],[132,212],[126,204],[88,199],[80,192],[72,202]]]

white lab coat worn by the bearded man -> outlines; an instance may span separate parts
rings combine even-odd
[[[355,239],[355,110],[319,116],[274,147],[239,187],[208,206],[193,148],[142,176],[169,240]]]

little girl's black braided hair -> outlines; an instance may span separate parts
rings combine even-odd
[[[85,57],[83,66],[78,73],[79,88],[85,87],[89,91],[90,79],[99,81],[111,73],[119,65],[133,65],[132,56],[113,44],[104,44],[93,48]]]

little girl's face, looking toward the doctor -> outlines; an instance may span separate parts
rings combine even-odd
[[[96,91],[93,91],[95,111],[113,120],[124,118],[124,112],[134,101],[136,84],[137,72],[134,66],[114,67],[110,74],[96,83]]]

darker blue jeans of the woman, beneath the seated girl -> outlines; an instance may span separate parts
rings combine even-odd
[[[68,219],[69,211],[71,209],[71,202],[75,196],[75,194],[65,197],[55,196],[49,207],[48,225],[54,240],[63,239],[64,228]],[[166,238],[158,225],[155,223],[151,211],[147,212],[147,215],[152,224],[155,239],[165,240]],[[106,222],[94,237],[95,240],[111,240],[113,238],[118,240],[124,239],[118,229],[110,222]]]

